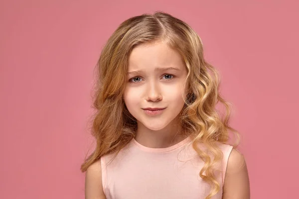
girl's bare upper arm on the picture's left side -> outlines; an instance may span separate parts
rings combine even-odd
[[[86,171],[85,199],[106,199],[102,186],[101,160],[94,162]]]

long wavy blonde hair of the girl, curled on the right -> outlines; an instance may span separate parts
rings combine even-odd
[[[145,42],[162,40],[182,56],[188,70],[185,105],[181,111],[181,126],[192,139],[192,147],[205,162],[199,175],[210,183],[212,189],[206,199],[220,191],[220,183],[214,174],[223,154],[217,142],[227,144],[230,107],[219,92],[217,70],[204,60],[203,47],[197,33],[182,20],[165,12],[134,16],[123,23],[109,38],[97,63],[97,83],[93,107],[91,131],[97,142],[93,153],[85,159],[81,171],[101,156],[118,152],[134,137],[137,121],[128,111],[123,93],[126,86],[128,60],[134,47]],[[216,109],[220,102],[226,112],[221,117]],[[238,142],[238,141],[237,141]],[[208,153],[199,148],[205,144]],[[234,147],[236,147],[234,145]]]

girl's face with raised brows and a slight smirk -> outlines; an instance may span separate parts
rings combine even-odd
[[[180,54],[165,43],[144,43],[133,49],[124,100],[139,126],[160,130],[176,122],[184,106],[186,76]]]

